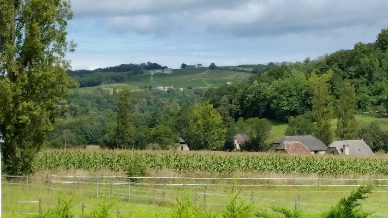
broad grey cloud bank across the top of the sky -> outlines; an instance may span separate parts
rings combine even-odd
[[[386,19],[386,0],[77,0],[75,17],[106,17],[107,29],[237,37],[371,26]],[[162,34],[163,36],[163,34]]]

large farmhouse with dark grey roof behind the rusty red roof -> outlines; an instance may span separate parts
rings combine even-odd
[[[327,149],[323,142],[312,135],[293,135],[280,138],[271,145],[268,151],[275,152],[276,150],[285,150],[284,142],[300,142],[307,147],[311,154],[325,154]]]

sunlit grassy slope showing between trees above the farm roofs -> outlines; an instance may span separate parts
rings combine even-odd
[[[373,121],[377,121],[380,125],[380,128],[383,130],[388,130],[388,119],[387,118],[375,118],[375,117],[368,117],[368,116],[362,116],[357,115],[356,116],[357,121],[359,122],[359,125],[367,125]],[[337,125],[337,119],[333,119],[331,121],[333,128],[336,128]],[[276,121],[272,121],[272,130],[271,130],[271,136],[268,140],[269,142],[273,142],[281,137],[284,136],[284,131],[286,131],[288,125],[286,123],[279,123]]]

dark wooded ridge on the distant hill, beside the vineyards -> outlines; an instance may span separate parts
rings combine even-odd
[[[95,70],[68,70],[69,76],[80,83],[80,87],[95,87],[109,83],[123,83],[128,76],[142,74],[145,70],[166,69],[157,63],[121,64],[114,67],[98,68]]]

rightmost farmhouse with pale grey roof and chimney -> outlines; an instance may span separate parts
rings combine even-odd
[[[374,155],[372,149],[364,142],[364,140],[335,141],[327,148],[326,154],[340,156]]]

